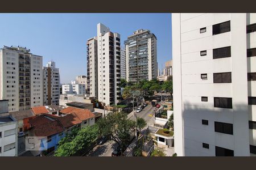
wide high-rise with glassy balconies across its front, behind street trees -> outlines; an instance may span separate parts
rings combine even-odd
[[[149,30],[139,29],[125,41],[126,80],[138,83],[158,76],[156,36]]]

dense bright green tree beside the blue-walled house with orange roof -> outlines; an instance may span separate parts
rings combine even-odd
[[[72,131],[71,135],[61,139],[55,151],[55,156],[72,156],[84,148],[87,148],[99,137],[97,125],[86,126],[78,131]]]

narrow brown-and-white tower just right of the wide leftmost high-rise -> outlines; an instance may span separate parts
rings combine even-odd
[[[55,67],[55,62],[50,61],[46,67],[43,67],[44,84],[44,105],[59,105],[60,99],[60,74],[59,69]]]

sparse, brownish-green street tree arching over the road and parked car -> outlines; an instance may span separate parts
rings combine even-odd
[[[121,148],[125,148],[129,144],[131,132],[135,128],[134,121],[127,119],[125,113],[117,111],[100,118],[97,124],[100,128],[100,134],[111,137]],[[121,150],[121,154],[123,154],[123,150]]]

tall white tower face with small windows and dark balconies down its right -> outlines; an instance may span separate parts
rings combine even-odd
[[[110,32],[104,24],[97,24],[98,40],[98,101],[106,105],[121,99],[121,48],[119,33]]]

